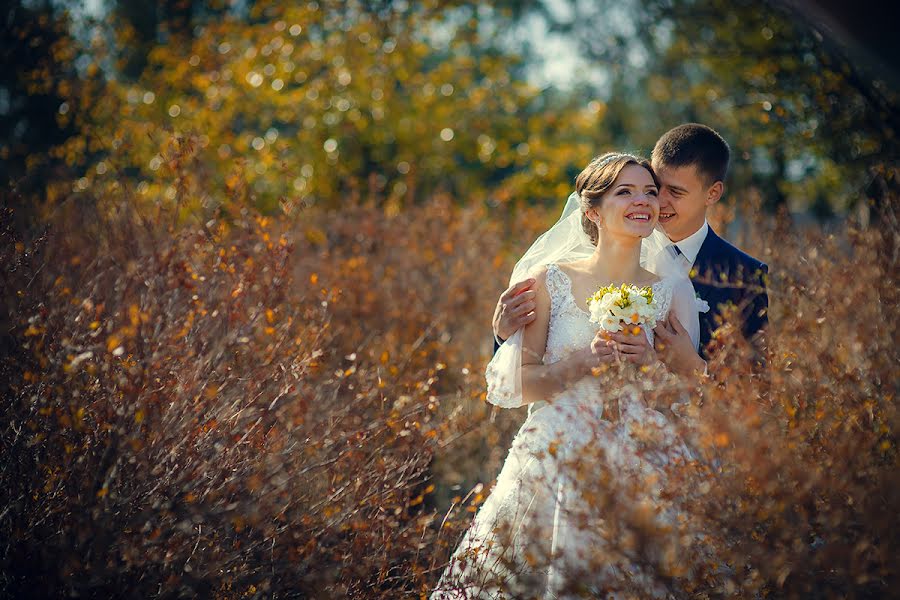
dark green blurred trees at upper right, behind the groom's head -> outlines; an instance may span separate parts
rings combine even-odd
[[[769,209],[789,198],[846,209],[897,189],[897,90],[802,13],[747,0],[570,4],[575,18],[552,27],[615,65],[610,89],[659,133],[694,120],[719,129],[735,151],[732,183],[760,189]]]

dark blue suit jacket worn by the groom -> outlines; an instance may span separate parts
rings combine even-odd
[[[694,291],[709,304],[709,312],[700,313],[700,356],[709,358],[706,346],[720,325],[716,318],[729,303],[741,310],[747,339],[768,325],[768,272],[765,263],[738,250],[709,229],[691,269]],[[499,347],[495,339],[494,352]]]

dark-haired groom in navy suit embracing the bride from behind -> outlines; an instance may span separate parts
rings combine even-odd
[[[667,131],[651,154],[660,182],[659,224],[665,232],[653,235],[672,253],[672,268],[683,269],[690,276],[697,296],[710,307],[700,313],[699,355],[677,319],[654,329],[656,350],[676,373],[706,370],[708,345],[726,307],[737,307],[744,336],[757,346],[763,343],[768,324],[768,267],[720,238],[706,221],[706,210],[725,190],[730,156],[722,136],[698,123]],[[533,279],[516,282],[500,296],[493,320],[497,341],[534,320],[533,284]]]

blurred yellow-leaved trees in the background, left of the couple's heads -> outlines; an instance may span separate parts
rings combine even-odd
[[[348,195],[396,208],[435,190],[558,202],[572,165],[591,156],[598,111],[542,99],[524,60],[495,43],[512,9],[325,1],[247,10],[185,9],[190,35],[155,44],[136,78],[111,74],[102,97],[73,99],[82,136],[56,152],[85,170],[79,189],[102,195],[103,185],[133,181],[148,201],[192,212],[213,208],[210,185],[265,210],[340,206]],[[120,49],[135,31],[115,27],[115,43],[95,47],[94,59],[130,72],[139,61]],[[192,186],[168,184],[164,131],[198,136],[197,169],[183,178]],[[96,154],[82,151],[87,137]]]

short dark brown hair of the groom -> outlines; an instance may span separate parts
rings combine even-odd
[[[694,165],[707,185],[725,182],[731,149],[715,130],[700,123],[685,123],[663,134],[650,155],[654,165]]]

